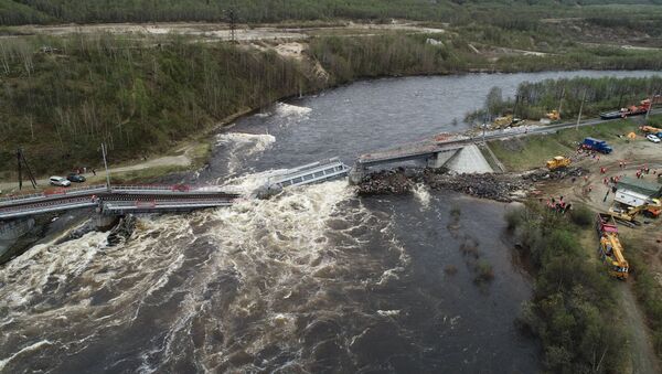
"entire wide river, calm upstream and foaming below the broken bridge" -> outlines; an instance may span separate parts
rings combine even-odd
[[[249,190],[273,170],[461,130],[495,85],[648,74],[361,82],[238,120],[190,178]],[[514,325],[531,282],[505,209],[425,186],[359,199],[334,181],[141,216],[117,247],[96,232],[42,243],[0,268],[0,372],[536,372],[538,346]]]

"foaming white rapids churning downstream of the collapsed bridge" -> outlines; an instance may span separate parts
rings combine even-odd
[[[236,185],[248,189],[263,178],[245,175]],[[2,285],[12,285],[0,288],[7,303],[0,325],[9,327],[0,345],[12,348],[0,363],[22,357],[25,343],[53,356],[103,344],[100,336],[113,331],[150,327],[163,333],[138,344],[138,366],[146,373],[167,371],[188,350],[205,370],[224,367],[236,348],[210,340],[217,333],[244,340],[242,351],[248,354],[274,344],[287,350],[287,342],[298,340],[297,319],[328,302],[324,285],[351,276],[350,266],[361,263],[360,233],[377,221],[361,204],[348,206],[353,199],[346,182],[335,181],[231,209],[143,216],[132,239],[118,247],[106,247],[103,233],[35,246],[0,269]],[[381,229],[391,235],[386,226]],[[382,250],[404,250],[392,242]],[[220,277],[225,280],[218,282]],[[376,285],[380,275],[366,280]],[[342,304],[328,308],[335,314]],[[234,331],[244,320],[256,323]],[[194,338],[203,343],[192,348]]]

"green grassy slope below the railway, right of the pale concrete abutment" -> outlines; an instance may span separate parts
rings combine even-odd
[[[655,117],[656,120],[661,116]],[[545,165],[554,156],[572,156],[577,143],[586,137],[607,140],[616,147],[627,147],[626,139],[619,136],[638,131],[638,125],[630,119],[609,121],[595,126],[565,129],[551,135],[534,135],[525,138],[494,140],[490,148],[510,171],[523,171]],[[639,139],[641,140],[641,138]],[[639,141],[633,140],[633,141]]]

